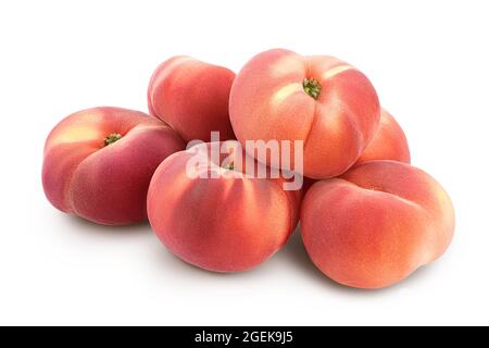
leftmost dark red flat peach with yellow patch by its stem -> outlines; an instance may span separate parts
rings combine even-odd
[[[170,126],[142,112],[79,111],[46,141],[45,192],[59,210],[96,223],[139,222],[147,219],[148,186],[158,165],[184,148]]]

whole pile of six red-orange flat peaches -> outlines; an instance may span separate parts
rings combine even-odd
[[[151,77],[148,104],[150,115],[95,108],[54,127],[42,185],[55,208],[105,225],[149,219],[167,249],[215,272],[256,266],[300,220],[313,263],[359,288],[400,282],[450,245],[449,196],[409,164],[403,130],[343,61],[275,49],[235,75],[175,57]],[[239,146],[249,140],[301,140],[303,158],[258,161]],[[296,147],[278,151],[297,159]],[[265,177],[244,173],[248,164]],[[290,173],[303,175],[302,188],[285,188]]]

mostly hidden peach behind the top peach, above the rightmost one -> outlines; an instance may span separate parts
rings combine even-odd
[[[408,139],[396,119],[386,110],[381,110],[380,123],[374,139],[368,144],[355,164],[374,161],[392,160],[411,163]]]

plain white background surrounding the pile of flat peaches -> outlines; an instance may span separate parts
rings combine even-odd
[[[487,1],[1,1],[0,324],[489,324]],[[363,70],[451,195],[455,238],[379,291],[338,286],[296,235],[254,271],[173,257],[148,225],[98,226],[46,200],[42,146],[95,105],[147,111],[153,69],[190,54],[238,71],[283,47]]]

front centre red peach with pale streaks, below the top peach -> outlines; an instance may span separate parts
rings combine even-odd
[[[222,162],[218,147],[244,152],[239,142],[213,145],[216,150],[203,144],[160,165],[148,192],[148,216],[161,241],[184,261],[214,272],[246,271],[288,240],[298,222],[301,192],[285,191],[283,178],[243,174],[246,166],[234,156],[233,167]],[[193,165],[197,149],[203,164]],[[217,153],[217,160],[211,153]],[[243,156],[241,163],[248,161],[254,162]]]

